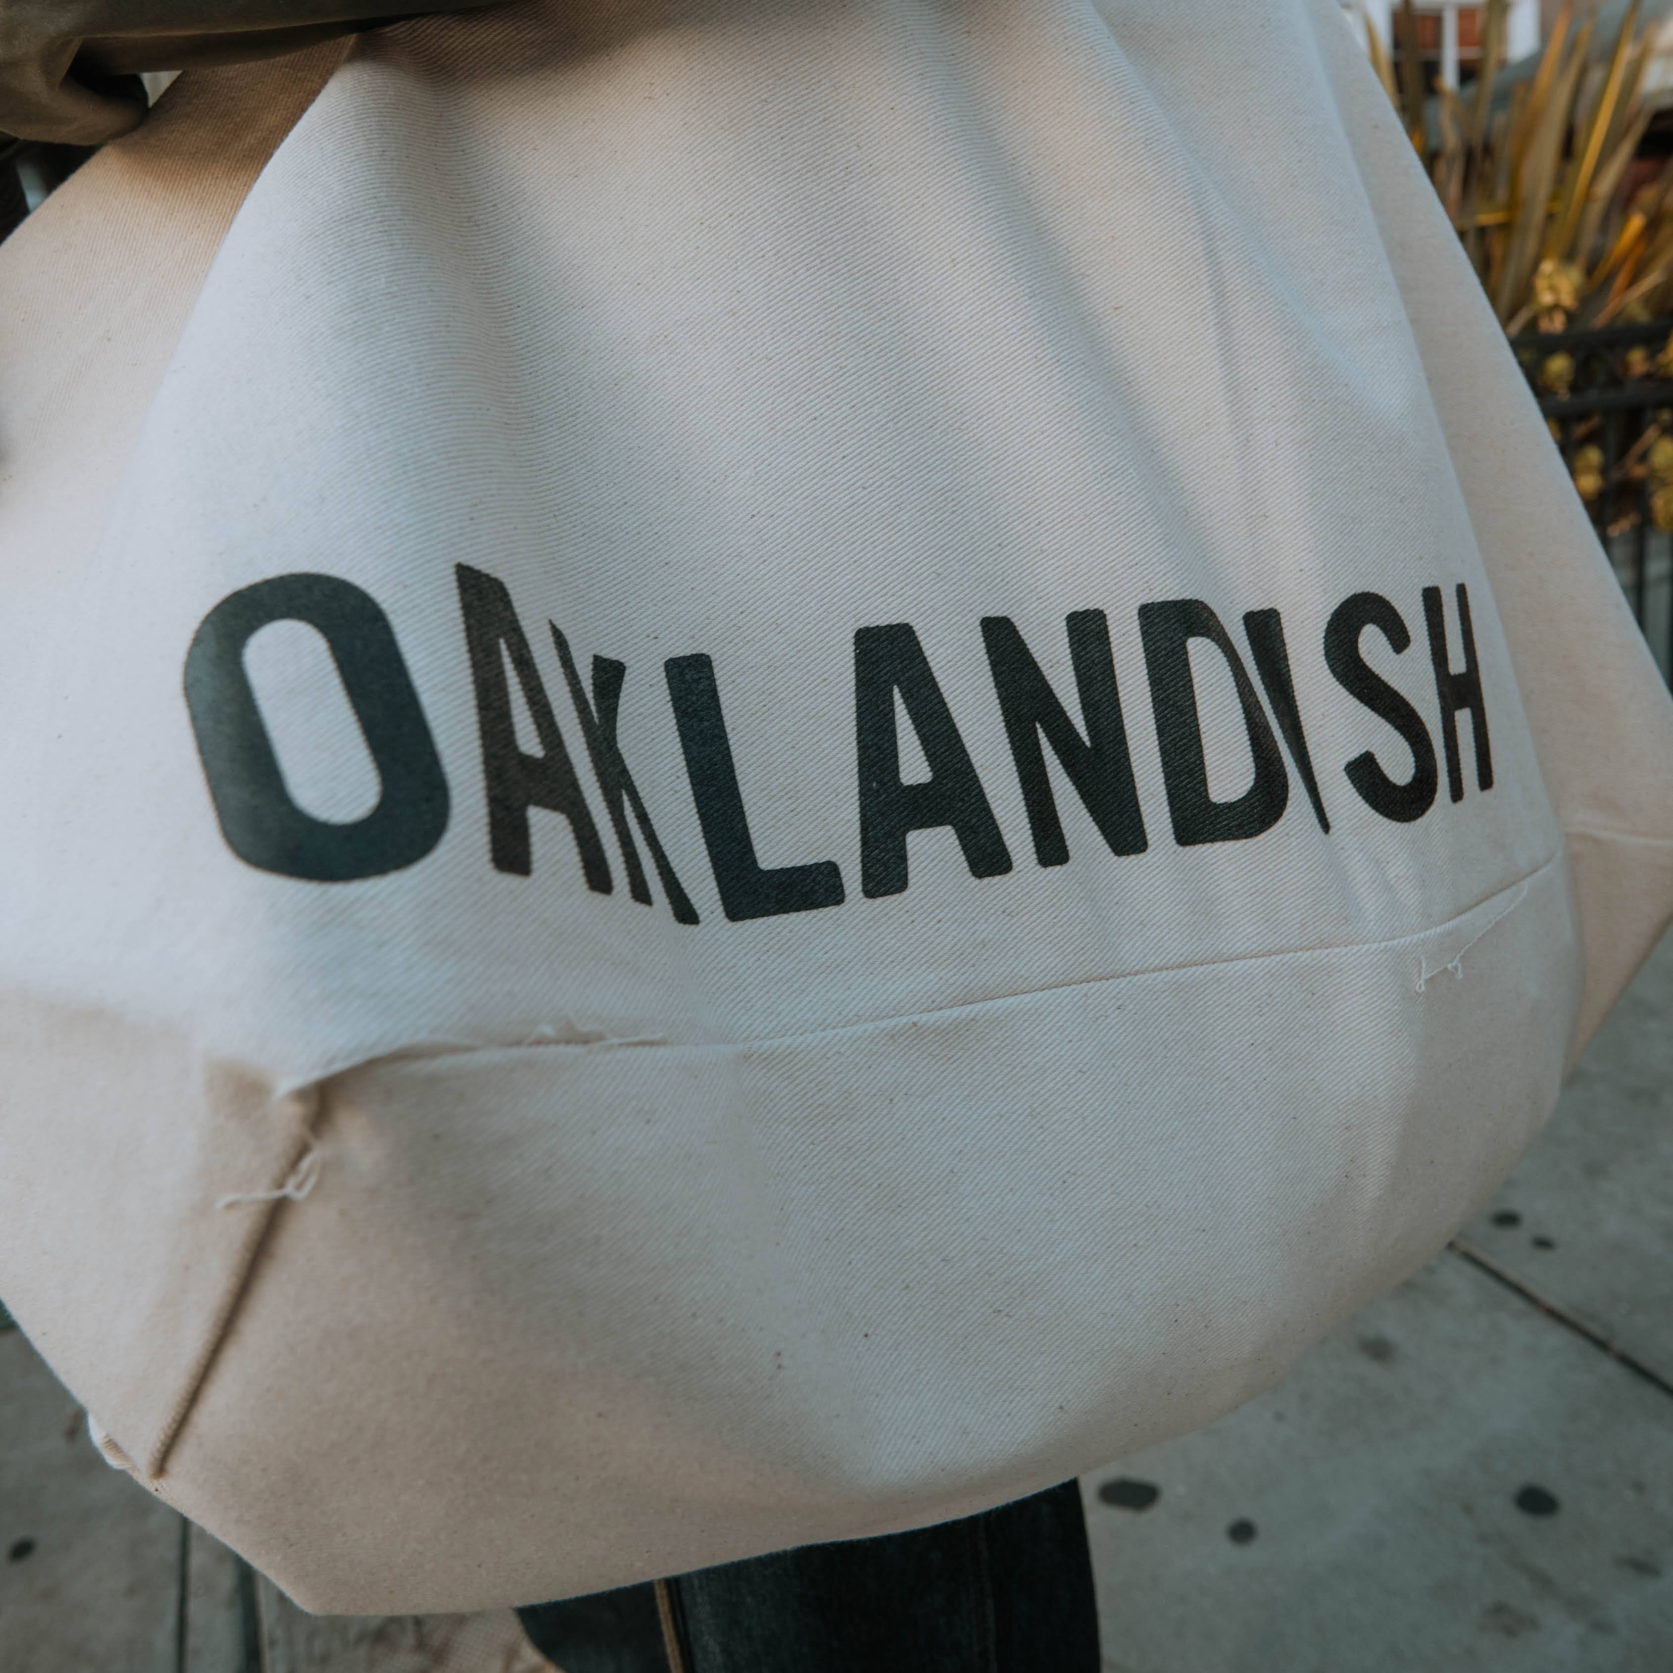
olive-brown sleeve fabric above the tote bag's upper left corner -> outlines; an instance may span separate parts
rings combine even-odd
[[[99,146],[146,114],[119,77],[248,64],[472,3],[490,0],[0,0],[0,134]]]

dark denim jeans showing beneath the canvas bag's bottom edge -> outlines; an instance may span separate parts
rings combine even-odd
[[[522,1609],[564,1673],[1097,1673],[1081,1492]]]

